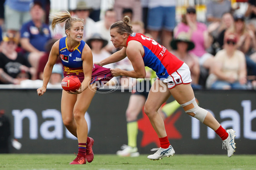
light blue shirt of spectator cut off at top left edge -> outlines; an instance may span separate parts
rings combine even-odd
[[[29,11],[30,4],[34,2],[34,0],[6,0],[5,5],[17,11]]]

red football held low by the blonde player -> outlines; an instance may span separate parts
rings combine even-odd
[[[61,87],[65,91],[76,91],[80,88],[81,82],[76,76],[66,76],[61,80]]]

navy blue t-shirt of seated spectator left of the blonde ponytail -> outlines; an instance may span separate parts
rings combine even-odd
[[[20,29],[20,37],[28,38],[30,44],[39,51],[45,51],[44,45],[52,38],[47,24],[43,23],[41,28],[37,28],[32,20],[23,24]]]

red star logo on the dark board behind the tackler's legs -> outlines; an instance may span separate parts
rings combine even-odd
[[[175,127],[175,122],[179,119],[181,111],[177,111],[172,116],[169,116],[164,120],[166,133],[169,139],[181,139],[182,136],[180,132]],[[138,120],[138,128],[143,132],[142,141],[140,143],[141,147],[145,147],[150,143],[155,143],[157,147],[160,147],[159,138],[157,133],[154,131],[148,116],[143,111],[143,118]]]

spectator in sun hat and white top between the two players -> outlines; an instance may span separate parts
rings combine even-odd
[[[93,62],[100,62],[109,57],[111,54],[104,49],[108,41],[102,38],[101,34],[93,34],[87,41],[87,45],[91,48],[93,53]],[[114,68],[114,64],[104,65],[105,68]]]

